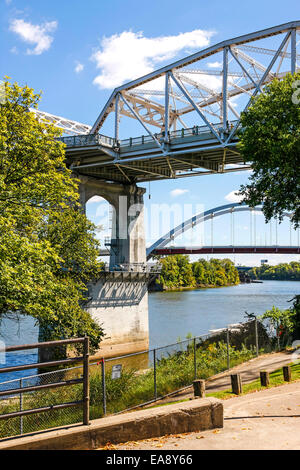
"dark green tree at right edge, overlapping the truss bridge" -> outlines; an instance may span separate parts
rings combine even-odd
[[[274,79],[252,99],[241,115],[239,151],[251,162],[250,183],[241,186],[243,201],[251,207],[264,204],[266,221],[285,211],[300,220],[300,105],[297,94],[300,73]]]

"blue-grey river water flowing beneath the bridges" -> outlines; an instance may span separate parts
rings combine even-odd
[[[245,321],[245,311],[260,315],[273,305],[280,309],[289,308],[291,303],[288,301],[296,294],[300,294],[300,282],[292,281],[264,281],[263,284],[240,284],[216,289],[150,293],[150,348],[174,343],[178,338],[184,340],[189,333],[200,336],[210,329]],[[4,320],[0,333],[0,340],[7,345],[38,341],[38,330],[30,318],[24,318],[20,324]],[[35,360],[35,351],[28,355],[13,353],[9,357],[11,365]],[[25,376],[31,373],[33,371],[19,374]],[[12,378],[12,374],[9,378]],[[8,377],[0,376],[0,382],[3,380],[8,380]]]

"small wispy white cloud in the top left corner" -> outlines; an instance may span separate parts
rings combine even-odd
[[[40,55],[47,51],[53,37],[48,34],[54,32],[57,28],[57,21],[50,21],[40,25],[34,25],[24,20],[13,20],[10,24],[10,31],[16,33],[24,42],[35,46],[33,49],[27,49],[27,54]]]

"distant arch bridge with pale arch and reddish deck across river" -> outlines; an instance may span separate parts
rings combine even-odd
[[[249,246],[235,246],[234,245],[234,213],[236,212],[250,212],[250,214],[255,214],[256,212],[261,212],[262,207],[251,208],[244,203],[232,203],[226,204],[223,206],[215,207],[209,209],[205,212],[201,212],[181,223],[177,227],[170,230],[164,236],[159,238],[152,246],[147,248],[147,258],[150,259],[154,255],[175,255],[175,254],[243,254],[243,253],[253,253],[253,254],[300,254],[300,245],[299,245],[299,229],[298,229],[298,243],[297,246],[292,246],[291,243],[291,225],[290,225],[290,245],[289,246],[279,246],[278,245],[278,235],[277,235],[277,225],[276,225],[276,240],[275,245],[273,246],[257,246],[256,245],[256,223],[255,220],[252,223],[252,215],[250,219],[250,234],[251,239],[253,237],[253,243]],[[226,214],[231,214],[231,242],[232,245],[229,246],[213,246],[213,221],[216,217],[220,217]],[[285,212],[284,217],[291,218],[290,213]],[[169,243],[173,242],[179,235],[194,228],[196,225],[204,223],[205,221],[211,221],[211,246],[198,246],[198,247],[180,247],[180,246],[167,246]],[[253,233],[254,232],[254,233]]]

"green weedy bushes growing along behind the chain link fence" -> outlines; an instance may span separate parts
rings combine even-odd
[[[247,349],[242,346],[240,350],[229,347],[230,364],[235,366],[253,358],[256,355],[254,347]],[[196,350],[197,377],[207,379],[212,375],[227,369],[227,345],[224,342],[213,343],[208,346],[197,347]],[[191,385],[195,379],[194,352],[192,342],[186,351],[179,351],[157,361],[156,386],[157,397],[174,392],[182,387]],[[99,378],[99,380],[101,380]],[[118,382],[119,394],[114,395],[112,390]],[[116,413],[141,403],[154,399],[154,372],[153,368],[144,374],[134,370],[126,370],[122,377],[112,380],[110,375],[106,378],[107,411]]]

